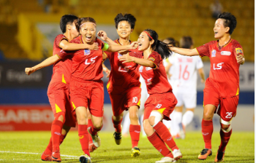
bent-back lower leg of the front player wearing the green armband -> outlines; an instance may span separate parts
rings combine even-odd
[[[102,130],[103,127],[103,117],[93,116],[91,115],[92,126],[88,128],[88,132],[91,135],[94,146],[99,148],[100,146],[100,138],[98,132]]]

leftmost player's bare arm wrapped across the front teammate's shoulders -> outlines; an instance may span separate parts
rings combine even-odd
[[[97,44],[75,44],[69,43],[66,39],[61,40],[59,43],[59,47],[66,51],[78,50],[78,49],[99,49]]]

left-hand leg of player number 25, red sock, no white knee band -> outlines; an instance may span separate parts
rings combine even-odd
[[[205,148],[198,155],[198,159],[206,159],[207,156],[211,156],[211,135],[214,132],[214,125],[212,118],[214,117],[214,111],[216,106],[208,104],[203,107],[203,120],[202,120],[202,135],[205,142]]]

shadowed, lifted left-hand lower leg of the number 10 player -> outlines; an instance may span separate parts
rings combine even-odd
[[[113,122],[113,127],[115,128],[115,132],[113,137],[115,138],[115,142],[117,145],[121,144],[121,122],[123,120],[124,112],[122,112],[118,116],[112,116],[112,122]]]

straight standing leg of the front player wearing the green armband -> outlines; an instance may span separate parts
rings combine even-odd
[[[87,131],[88,119],[87,119],[87,108],[84,106],[79,106],[75,108],[75,114],[78,119],[78,136],[79,141],[85,155],[80,156],[79,161],[84,162],[84,158],[90,156],[89,153],[89,135]],[[90,157],[89,157],[90,158]]]

